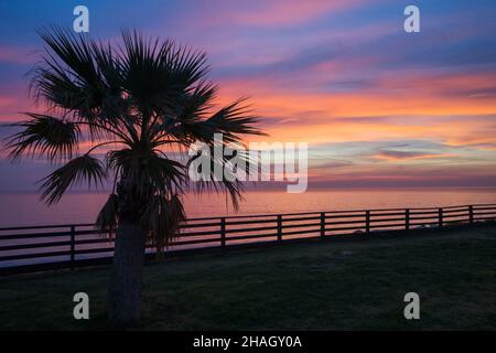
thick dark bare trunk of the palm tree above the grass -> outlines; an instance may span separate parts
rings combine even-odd
[[[108,292],[108,319],[114,327],[136,325],[141,318],[145,240],[138,222],[119,220]]]

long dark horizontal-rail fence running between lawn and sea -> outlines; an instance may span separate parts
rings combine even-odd
[[[169,250],[494,221],[496,204],[190,218]],[[0,274],[108,263],[112,252],[114,240],[91,224],[0,228]],[[152,246],[147,252],[153,253]]]

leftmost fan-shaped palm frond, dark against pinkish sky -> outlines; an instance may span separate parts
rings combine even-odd
[[[44,154],[50,160],[71,158],[77,150],[79,127],[74,122],[47,115],[28,113],[32,119],[14,124],[22,130],[7,141],[12,149],[9,157],[18,159],[24,153]]]

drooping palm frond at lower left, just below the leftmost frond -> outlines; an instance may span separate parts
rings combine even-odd
[[[58,168],[53,173],[42,179],[42,196],[48,205],[58,202],[66,190],[74,184],[87,182],[99,184],[106,178],[106,171],[103,163],[89,156],[77,157],[65,165]]]

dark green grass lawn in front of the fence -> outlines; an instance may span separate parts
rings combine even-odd
[[[108,268],[0,279],[0,330],[105,329]],[[90,297],[90,320],[72,317]],[[403,318],[406,292],[421,320]],[[187,255],[145,268],[141,329],[496,329],[496,227]]]

